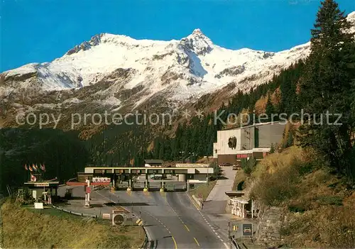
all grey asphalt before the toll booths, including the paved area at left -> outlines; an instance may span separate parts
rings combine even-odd
[[[60,191],[64,195],[65,188]],[[84,197],[84,188],[75,187],[74,197]],[[186,192],[93,191],[92,209],[83,209],[84,199],[70,201],[66,209],[90,214],[111,213],[110,202],[119,203],[145,221],[153,248],[226,248],[226,241],[212,223],[191,203]]]

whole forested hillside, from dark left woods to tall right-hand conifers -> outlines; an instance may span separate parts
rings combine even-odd
[[[3,129],[0,131],[1,189],[24,179],[23,165],[45,162],[48,177],[69,178],[92,165],[143,165],[146,158],[182,160],[192,154],[212,155],[217,131],[229,114],[310,114],[310,125],[293,131],[303,147],[312,147],[337,173],[355,177],[355,42],[351,23],[332,0],[322,2],[312,29],[311,54],[274,75],[250,92],[238,92],[219,109],[202,118],[176,119],[173,125],[107,126],[80,140],[78,133],[55,130]],[[246,82],[247,84],[247,82]],[[196,109],[207,106],[201,98]],[[325,114],[342,114],[341,125],[325,123]],[[216,119],[216,115],[220,120]],[[293,116],[302,121],[300,116]],[[249,118],[250,123],[253,118]],[[334,123],[337,116],[331,116]],[[277,120],[277,116],[273,121]],[[256,120],[257,121],[257,120]],[[268,121],[268,120],[263,120]],[[320,125],[320,123],[322,123]],[[328,120],[327,120],[328,121]],[[248,123],[244,123],[245,125]],[[82,137],[82,136],[80,136]]]

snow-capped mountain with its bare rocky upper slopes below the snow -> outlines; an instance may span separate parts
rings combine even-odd
[[[355,12],[348,19],[355,23]],[[212,43],[200,29],[170,41],[102,33],[53,62],[31,63],[3,72],[0,96],[6,99],[12,94],[17,96],[18,105],[31,107],[82,102],[114,110],[157,103],[175,107],[230,85],[229,95],[239,89],[247,91],[309,52],[310,43],[281,52],[229,50]],[[53,98],[48,100],[51,102],[38,98],[26,101],[30,93]]]

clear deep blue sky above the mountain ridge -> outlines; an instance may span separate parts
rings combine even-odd
[[[354,0],[337,1],[346,13]],[[315,0],[1,0],[0,72],[48,62],[97,33],[180,39],[200,28],[224,48],[280,51],[310,39]]]

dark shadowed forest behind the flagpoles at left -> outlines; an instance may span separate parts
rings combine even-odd
[[[19,187],[30,175],[25,165],[45,165],[46,179],[62,182],[75,177],[89,161],[89,153],[77,132],[53,129],[0,130],[0,192],[6,185]]]

